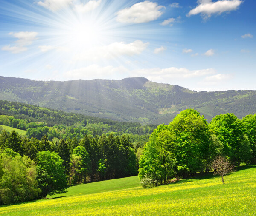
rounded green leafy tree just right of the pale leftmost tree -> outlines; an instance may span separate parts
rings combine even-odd
[[[42,190],[41,197],[65,192],[67,179],[62,163],[63,160],[55,152],[38,152],[36,170],[38,185]]]

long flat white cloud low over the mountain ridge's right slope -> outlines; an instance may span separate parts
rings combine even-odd
[[[209,74],[215,74],[213,68],[203,69],[203,70],[193,70],[190,71],[187,68],[151,68],[151,69],[140,69],[132,71],[136,76],[147,77],[149,80],[158,80],[160,82],[166,82],[167,80],[172,80],[174,78],[192,78],[201,77]]]

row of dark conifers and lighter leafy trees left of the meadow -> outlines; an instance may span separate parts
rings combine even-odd
[[[68,185],[137,175],[138,160],[128,136],[61,139],[0,134],[0,204],[62,193]],[[17,183],[19,182],[19,183]]]

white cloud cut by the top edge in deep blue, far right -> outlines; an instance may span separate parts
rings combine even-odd
[[[201,14],[204,19],[207,19],[212,14],[219,15],[224,12],[236,10],[242,2],[242,0],[218,0],[216,2],[212,2],[212,0],[198,0],[198,6],[189,11],[187,16]]]

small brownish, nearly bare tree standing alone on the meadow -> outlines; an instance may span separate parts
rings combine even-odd
[[[235,171],[234,165],[227,158],[223,156],[218,156],[212,162],[211,168],[214,169],[214,175],[221,176],[223,184],[224,184],[223,176]]]

